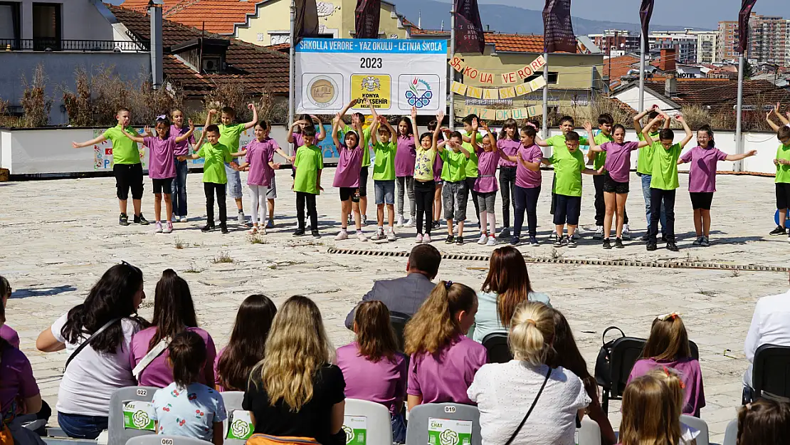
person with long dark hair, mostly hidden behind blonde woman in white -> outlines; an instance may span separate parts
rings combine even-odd
[[[590,375],[587,369],[587,362],[585,362],[585,358],[579,352],[568,320],[565,318],[565,315],[562,315],[562,312],[556,309],[551,309],[551,314],[554,317],[554,341],[552,341],[554,352],[549,354],[547,364],[551,368],[565,368],[581,379],[581,383],[584,384],[585,391],[587,391],[591,401],[587,407],[587,415],[590,419],[595,420],[600,427],[601,443],[604,443],[604,445],[616,443],[615,430],[611,428],[609,417],[604,413],[604,409],[600,405],[598,383],[596,383],[595,377]]]

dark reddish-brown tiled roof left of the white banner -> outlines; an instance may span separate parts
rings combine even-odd
[[[129,1],[129,0],[127,0]],[[137,39],[149,40],[150,21],[148,15],[120,6],[107,5],[115,17],[134,34]],[[266,89],[276,95],[288,94],[288,55],[241,40],[206,34],[206,37],[230,40],[225,62],[232,74],[200,74],[177,56],[167,54],[170,47],[201,36],[201,30],[190,28],[173,21],[162,21],[162,40],[165,56],[163,71],[167,81],[179,86],[190,98],[205,96],[220,79],[238,79],[250,92]]]

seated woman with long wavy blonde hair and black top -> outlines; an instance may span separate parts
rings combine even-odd
[[[321,312],[306,296],[292,296],[274,316],[265,356],[250,374],[243,409],[255,433],[344,445],[343,371],[332,364]],[[285,439],[290,443],[291,440]],[[253,436],[247,443],[260,443]]]

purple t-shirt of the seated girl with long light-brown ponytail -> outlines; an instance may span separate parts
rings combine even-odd
[[[423,403],[454,402],[475,405],[466,394],[475,374],[486,364],[488,354],[483,345],[459,335],[438,356],[412,355],[408,364],[407,394],[419,395]]]

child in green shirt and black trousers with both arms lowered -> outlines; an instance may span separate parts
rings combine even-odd
[[[315,127],[305,126],[302,129],[304,145],[296,150],[294,159],[294,191],[296,192],[296,219],[299,226],[294,236],[304,236],[304,209],[310,216],[310,228],[314,238],[321,238],[318,233],[318,212],[315,209],[315,197],[323,189],[321,187],[321,171],[324,168],[324,153],[315,143]]]

